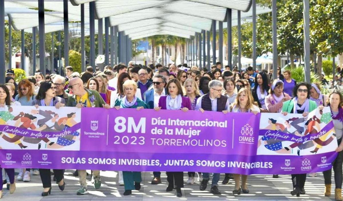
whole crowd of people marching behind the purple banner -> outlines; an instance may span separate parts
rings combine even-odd
[[[309,112],[324,106],[330,106],[331,117],[333,118],[336,138],[338,140],[339,152],[333,163],[335,180],[335,200],[342,200],[342,162],[343,162],[343,97],[342,93],[335,87],[339,85],[342,74],[336,75],[331,85],[333,88],[329,95],[321,92],[323,84],[328,83],[323,77],[321,83],[297,83],[292,79],[291,71],[281,72],[277,67],[277,77],[273,77],[268,71],[256,72],[251,66],[244,71],[240,71],[237,66],[222,66],[220,62],[211,67],[198,68],[188,67],[187,64],[178,65],[161,64],[142,66],[130,61],[128,65],[119,63],[115,66],[105,66],[103,71],[88,66],[81,74],[73,71],[72,66],[65,67],[66,76],[57,74],[35,73],[25,79],[15,81],[13,70],[8,70],[6,83],[0,85],[0,106],[5,105],[29,105],[29,106],[63,106],[70,107],[103,107],[106,109],[115,108],[123,110],[125,108],[135,108],[137,110],[153,109],[159,110],[200,110],[222,112],[259,112],[302,114],[304,117]],[[329,84],[330,85],[330,84]],[[89,97],[95,96],[95,101],[90,101]],[[3,115],[0,114],[0,123]],[[35,127],[34,118],[26,117],[31,129],[40,130],[42,127]],[[22,120],[24,121],[24,120]],[[62,123],[61,123],[62,124]],[[70,122],[63,122],[64,125]],[[24,125],[24,124],[23,124]],[[6,138],[7,136],[1,135]],[[22,140],[13,136],[12,142],[26,147]],[[8,138],[8,137],[7,137]],[[14,138],[14,139],[13,139]],[[25,139],[24,139],[25,140]],[[23,141],[24,141],[23,140]],[[47,145],[54,146],[54,142],[44,140]],[[280,147],[289,150],[292,147]],[[316,150],[314,150],[316,152]],[[30,181],[31,169],[21,169],[16,177],[17,181]],[[10,193],[15,190],[14,169],[5,169],[6,177],[4,184]],[[51,193],[51,176],[49,169],[32,169],[33,175],[40,175],[43,184],[42,196]],[[64,190],[63,179],[64,170],[54,169],[54,180],[58,183],[60,190]],[[173,191],[177,197],[182,197],[181,188],[184,187],[183,172],[167,172],[168,187],[166,191]],[[1,174],[0,174],[1,175]],[[79,176],[81,184],[77,191],[78,195],[86,194],[86,170],[76,170],[73,174]],[[204,191],[210,180],[209,173],[197,173],[200,190]],[[2,175],[1,175],[2,176]],[[153,172],[152,185],[161,183],[161,172]],[[196,179],[195,172],[188,172],[186,184],[192,185]],[[292,195],[297,197],[305,194],[306,174],[292,174],[293,191]],[[315,175],[311,175],[315,176]],[[273,175],[277,178],[278,175]],[[226,185],[230,179],[234,179],[235,187],[233,194],[249,193],[247,186],[248,175],[226,173],[222,184]],[[331,195],[331,169],[324,172],[325,189],[324,195]],[[221,194],[218,189],[220,181],[219,173],[212,173],[212,183],[210,192]],[[119,185],[125,186],[123,194],[130,195],[132,190],[141,188],[141,172],[119,171]],[[95,189],[101,186],[99,170],[92,170],[92,183]],[[0,186],[0,198],[2,185]]]

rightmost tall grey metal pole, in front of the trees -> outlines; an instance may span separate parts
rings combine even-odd
[[[310,83],[310,4],[309,0],[304,1],[304,63],[305,81]]]

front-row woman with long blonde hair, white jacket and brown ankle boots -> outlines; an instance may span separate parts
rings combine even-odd
[[[258,74],[259,75],[259,74]],[[238,95],[236,100],[231,105],[231,112],[252,112],[257,114],[260,112],[258,106],[253,104],[253,98],[249,89],[241,88],[238,91]],[[247,187],[247,179],[248,175],[240,175],[240,174],[233,174],[235,179],[235,190],[232,191],[232,194],[240,194],[241,191],[243,193],[249,193],[249,189]],[[242,181],[242,185],[240,186],[240,180]]]

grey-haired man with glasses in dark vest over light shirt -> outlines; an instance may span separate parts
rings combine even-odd
[[[230,103],[226,96],[222,96],[223,83],[219,80],[211,80],[209,82],[209,89],[209,93],[198,98],[195,110],[199,110],[201,112],[204,112],[205,110],[223,112],[224,114],[227,114],[229,112]],[[200,190],[205,190],[210,180],[210,174],[202,173],[202,177],[203,179],[200,184]],[[221,194],[218,189],[219,179],[220,173],[212,174],[211,193],[213,194]]]

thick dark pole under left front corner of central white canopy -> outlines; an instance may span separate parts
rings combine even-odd
[[[90,27],[90,56],[89,65],[93,67],[95,72],[95,2],[89,2],[89,27]]]

